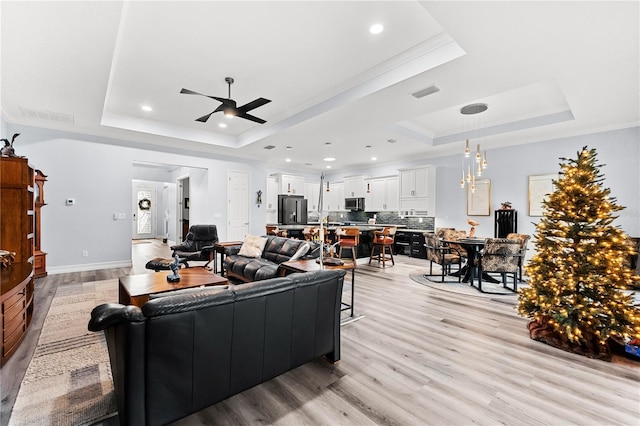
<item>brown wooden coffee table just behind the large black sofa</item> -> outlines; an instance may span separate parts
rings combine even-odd
[[[119,302],[123,305],[142,307],[142,305],[149,300],[150,294],[163,293],[182,288],[225,285],[229,283],[226,278],[214,274],[205,268],[194,267],[180,269],[180,281],[177,283],[167,281],[167,275],[171,273],[171,271],[163,271],[152,274],[120,277]]]

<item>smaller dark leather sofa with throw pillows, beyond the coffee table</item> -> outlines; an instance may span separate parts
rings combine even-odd
[[[225,248],[224,268],[229,277],[244,282],[266,280],[278,276],[278,267],[296,254],[304,245],[309,250],[303,259],[313,259],[320,255],[320,245],[313,241],[268,235],[261,257],[245,257],[238,254],[240,245]]]

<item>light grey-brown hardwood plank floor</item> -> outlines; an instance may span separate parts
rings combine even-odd
[[[137,249],[148,251],[144,262],[156,255],[134,244],[133,270]],[[177,424],[640,424],[640,363],[532,341],[515,296],[460,295],[409,278],[426,266],[406,256],[387,269],[358,265],[355,308],[365,317],[342,327],[339,364],[315,360]],[[47,280],[108,274],[123,275]]]

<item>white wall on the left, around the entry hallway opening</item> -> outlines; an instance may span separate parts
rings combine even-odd
[[[134,161],[181,164],[190,173],[191,220],[218,225],[221,241],[227,233],[226,176],[243,171],[250,180],[251,233],[264,233],[264,209],[253,195],[264,191],[266,169],[259,163],[229,162],[93,142],[95,137],[47,129],[8,125],[21,133],[18,155],[49,176],[42,209],[42,249],[50,274],[131,264],[131,182]],[[66,198],[76,205],[66,206]],[[113,213],[127,212],[127,220]],[[89,252],[82,257],[82,251]]]

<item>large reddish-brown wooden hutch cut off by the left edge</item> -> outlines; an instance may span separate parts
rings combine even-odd
[[[0,269],[2,352],[0,364],[16,351],[33,316],[34,170],[26,158],[0,157],[0,249],[15,252]]]

